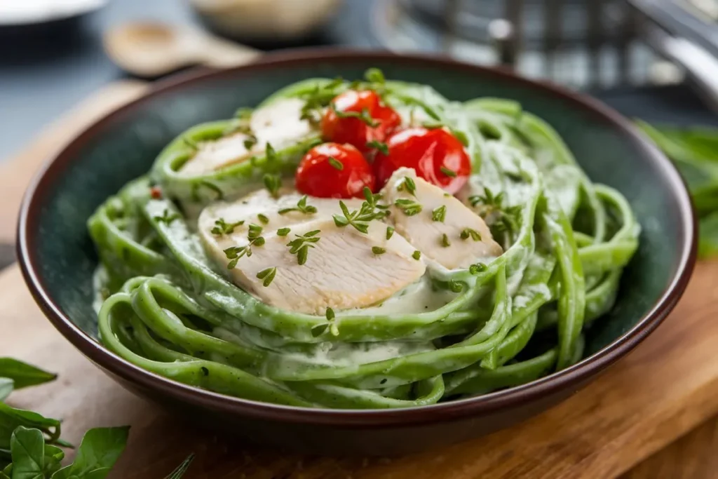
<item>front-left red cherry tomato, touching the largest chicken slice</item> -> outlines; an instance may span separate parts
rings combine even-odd
[[[364,197],[374,191],[374,174],[361,152],[350,144],[325,143],[304,155],[297,168],[297,190],[322,198]]]

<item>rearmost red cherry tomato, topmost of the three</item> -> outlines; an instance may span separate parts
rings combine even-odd
[[[327,141],[354,145],[363,153],[371,149],[366,146],[369,141],[384,141],[401,124],[398,113],[383,105],[376,91],[348,90],[336,96],[331,103],[334,108],[330,105],[322,118],[322,136]],[[362,114],[364,119],[357,117]]]

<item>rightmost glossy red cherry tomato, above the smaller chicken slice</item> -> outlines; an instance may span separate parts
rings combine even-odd
[[[466,184],[471,161],[464,145],[443,128],[409,128],[389,136],[388,154],[374,159],[377,185],[383,186],[400,167],[414,168],[416,175],[452,195]]]

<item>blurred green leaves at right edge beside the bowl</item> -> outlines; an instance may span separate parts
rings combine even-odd
[[[699,257],[718,256],[718,129],[637,123],[673,160],[688,185],[699,220]]]

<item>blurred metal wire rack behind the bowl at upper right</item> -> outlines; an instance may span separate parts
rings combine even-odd
[[[392,50],[506,65],[573,88],[679,81],[660,69],[639,23],[625,0],[376,0],[373,9]]]

